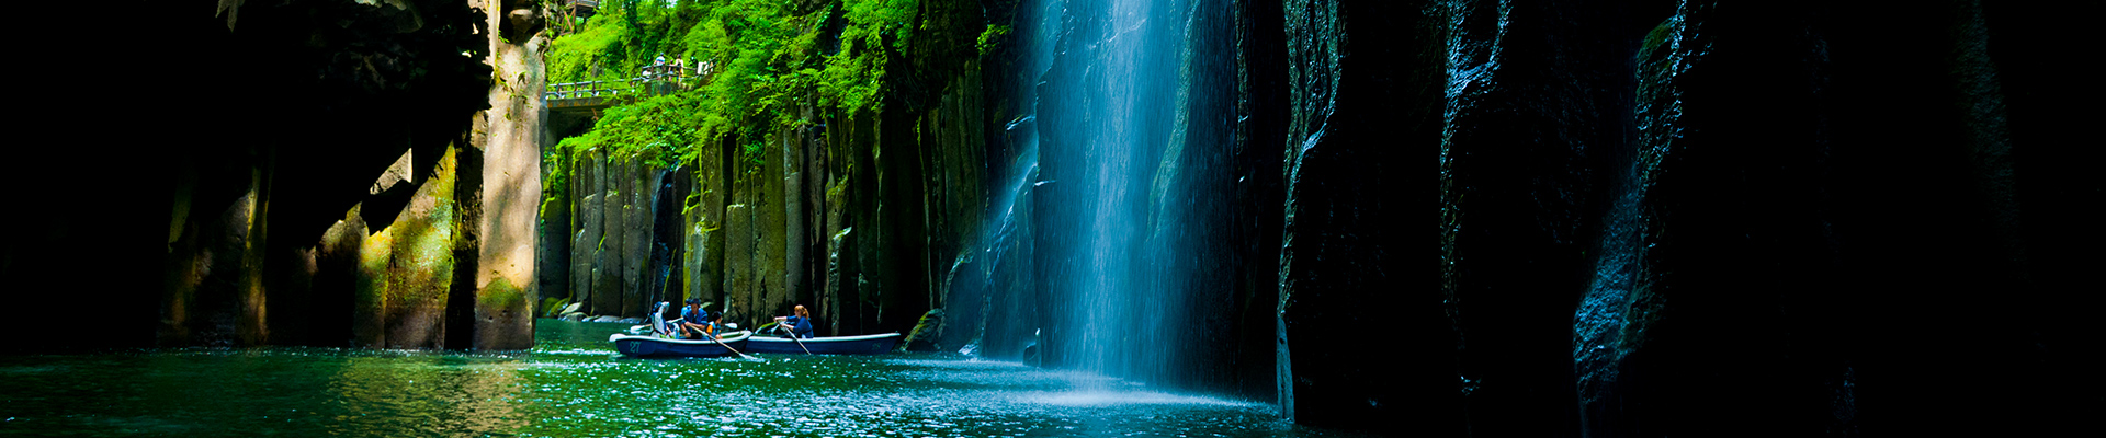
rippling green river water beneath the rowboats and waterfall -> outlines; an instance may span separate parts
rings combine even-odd
[[[0,436],[1337,436],[1264,402],[960,356],[621,358],[623,326],[541,320],[518,354],[0,356]]]

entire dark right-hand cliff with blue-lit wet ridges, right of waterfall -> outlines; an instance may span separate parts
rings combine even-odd
[[[2018,76],[2064,78],[2034,59],[2068,44],[2066,25],[2020,19],[2041,11],[1285,11],[1280,394],[1297,421],[1502,436],[1992,434],[2064,427],[2049,413],[2085,404],[2060,385],[1996,381],[2098,387],[2074,373],[2095,362],[2068,356],[2087,347],[2064,335],[2095,331],[2064,312],[2091,299],[2043,293],[2089,284],[2049,265],[2095,259],[2077,251],[2085,244],[2041,238],[2085,227],[2032,217],[2068,208],[2055,194],[2098,192],[2062,164],[2089,152],[2045,145],[2032,150],[2043,162],[2018,158],[2022,139],[2070,133],[2051,101],[2087,97],[2007,93],[2039,84]],[[2041,122],[2026,133],[2022,118]],[[1354,126],[1386,126],[1379,141],[1392,150],[1438,156],[1438,190],[1424,196],[1441,202],[1438,234],[1424,234],[1441,248],[1436,270],[1386,261],[1409,240],[1356,225],[1409,221],[1386,219],[1392,198],[1354,198],[1365,179],[1342,175],[1409,160],[1327,158],[1392,152],[1356,147],[1369,135]],[[1426,288],[1354,286],[1382,278],[1426,278]],[[1984,291],[2005,299],[1959,305]],[[1367,307],[1384,316],[1367,328],[1400,339],[1413,360],[1369,377],[1308,352],[1337,347],[1323,331],[1354,328]],[[1973,322],[1929,328],[1933,314]],[[1954,343],[1992,354],[1929,360]],[[1369,421],[1398,415],[1413,419]]]

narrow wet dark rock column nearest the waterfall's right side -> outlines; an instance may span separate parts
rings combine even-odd
[[[1392,2],[1287,2],[1278,394],[1299,423],[1459,434],[1455,339],[1400,251],[1411,192],[1371,175],[1441,139],[1438,15]],[[1259,44],[1253,44],[1259,46]],[[1255,76],[1264,78],[1264,76]],[[1264,145],[1251,145],[1264,147]],[[1424,198],[1432,198],[1426,194]],[[1419,274],[1419,276],[1415,276]],[[1360,339],[1409,360],[1371,360]]]

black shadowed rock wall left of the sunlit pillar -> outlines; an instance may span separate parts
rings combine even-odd
[[[59,215],[11,215],[11,230],[46,232],[29,232],[4,246],[0,276],[21,284],[8,291],[46,284],[97,291],[91,305],[74,303],[72,295],[25,295],[34,307],[59,312],[19,322],[122,322],[86,324],[86,339],[93,341],[25,339],[11,345],[350,345],[360,331],[354,318],[358,284],[385,284],[385,278],[356,270],[366,234],[411,227],[394,221],[411,204],[436,200],[430,198],[438,190],[432,179],[459,181],[434,175],[457,166],[440,166],[440,158],[453,156],[449,150],[476,152],[461,160],[478,173],[493,168],[470,143],[478,131],[476,112],[491,101],[493,69],[484,57],[493,36],[484,27],[495,21],[484,21],[482,6],[438,0],[227,2],[215,15],[213,6],[200,13],[175,4],[126,4],[97,15],[105,32],[36,48],[53,51],[44,59],[57,65],[112,65],[69,74],[107,86],[51,99],[53,114],[101,112],[93,107],[120,105],[137,95],[171,101],[143,118],[61,118],[51,124],[69,133],[103,133],[91,135],[101,150],[95,158],[82,156],[84,150],[23,152],[29,162],[93,160],[112,177],[82,181],[76,187],[80,194],[65,190],[29,200]],[[105,46],[135,51],[112,59],[97,51]],[[110,122],[126,128],[110,128]],[[57,166],[32,175],[53,171]],[[459,181],[465,192],[444,190],[474,200],[480,198],[480,181]],[[84,194],[120,194],[126,200]],[[406,217],[468,219],[468,225],[453,225],[474,232],[480,208],[459,208],[453,200],[430,206],[423,213],[434,215]],[[442,211],[451,213],[438,215]],[[396,236],[455,232],[444,230],[453,227],[444,221],[428,225]],[[472,261],[474,244],[436,242],[444,257],[425,261],[442,265],[436,270],[459,267],[446,259],[459,261],[465,248]],[[463,293],[446,282],[436,288],[436,297]],[[474,291],[465,293],[474,297]],[[444,318],[446,310],[438,314],[434,318]],[[459,333],[472,331],[463,326]]]

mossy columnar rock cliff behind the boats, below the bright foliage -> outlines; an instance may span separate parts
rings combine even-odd
[[[842,335],[908,331],[941,307],[937,284],[986,211],[973,38],[988,23],[969,2],[914,17],[912,44],[880,48],[901,51],[885,57],[882,105],[802,101],[802,122],[701,139],[693,158],[592,150],[558,162],[573,187],[552,204],[575,219],[550,236],[571,238],[571,280],[541,297],[604,316],[699,297],[748,326],[807,305],[821,333]],[[562,135],[579,133],[548,141]]]

